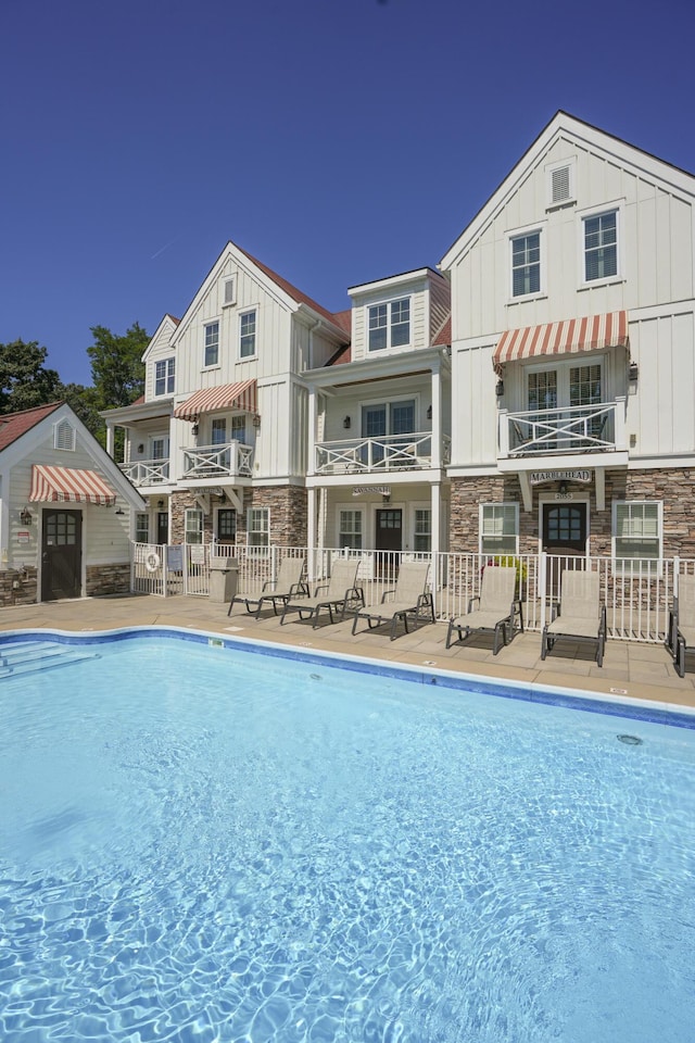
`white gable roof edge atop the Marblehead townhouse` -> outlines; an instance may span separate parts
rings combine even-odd
[[[598,127],[594,127],[592,124],[559,109],[462,234],[454,240],[440,261],[439,268],[447,271],[456,263],[486,223],[505,205],[529,171],[540,162],[555,140],[563,134],[581,141],[587,148],[601,149],[603,152],[611,154],[619,162],[634,167],[641,174],[646,173],[652,178],[671,185],[677,191],[691,197],[695,194],[695,177],[687,171],[683,171],[672,163],[668,163],[650,152],[645,152],[643,149],[623,141],[622,138],[618,138],[606,130],[601,130]]]

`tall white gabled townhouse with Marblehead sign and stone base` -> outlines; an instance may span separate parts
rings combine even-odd
[[[453,550],[695,557],[694,203],[558,112],[447,251]]]

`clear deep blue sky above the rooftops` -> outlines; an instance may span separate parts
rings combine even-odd
[[[693,0],[2,0],[0,342],[90,384],[232,239],[326,307],[434,266],[558,109],[695,172]]]

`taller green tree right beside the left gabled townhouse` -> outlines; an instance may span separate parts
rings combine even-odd
[[[105,326],[92,326],[91,334],[94,342],[87,349],[87,354],[91,360],[96,409],[130,405],[144,390],[141,359],[150,341],[148,332],[134,323],[123,337],[112,334]]]

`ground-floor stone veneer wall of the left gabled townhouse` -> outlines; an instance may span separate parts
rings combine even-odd
[[[190,492],[175,492],[172,495],[170,538],[173,543],[184,542],[184,517],[188,507],[195,506],[195,498]],[[223,506],[218,497],[213,495],[211,514],[203,516],[203,540],[211,543],[213,538],[213,513]],[[225,507],[231,506],[229,501]],[[306,546],[306,490],[301,486],[260,486],[244,489],[243,511],[237,512],[237,543],[247,542],[247,511],[249,507],[268,507],[270,511],[270,543],[278,546]]]

